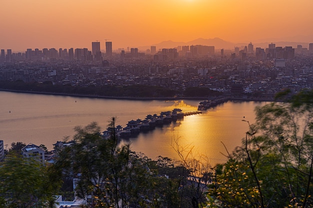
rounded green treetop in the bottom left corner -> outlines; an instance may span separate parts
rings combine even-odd
[[[60,184],[53,177],[37,161],[7,155],[0,163],[0,208],[46,208]]]

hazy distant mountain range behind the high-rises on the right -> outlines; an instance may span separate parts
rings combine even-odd
[[[310,36],[296,36],[296,37],[289,37],[289,38],[283,38],[287,41],[278,41],[278,38],[272,38],[271,39],[260,39],[260,40],[255,40],[251,41],[253,44],[254,49],[256,47],[261,47],[261,48],[267,48],[268,44],[270,43],[275,43],[276,47],[281,46],[292,46],[293,48],[296,48],[297,45],[302,45],[303,48],[308,48],[308,44],[310,42],[313,42],[313,35]],[[302,41],[296,41],[301,39]],[[195,40],[191,40],[188,42],[175,42],[172,40],[167,40],[167,41],[162,41],[160,43],[152,44],[156,46],[156,48],[174,48],[177,46],[183,46],[183,45],[209,45],[209,46],[215,46],[215,49],[233,49],[235,46],[239,48],[243,48],[244,46],[247,46],[249,42],[241,42],[241,43],[233,43],[233,42],[228,42],[223,39],[220,39],[218,37],[215,38],[197,38]],[[147,48],[150,48],[150,46],[141,46],[138,47],[139,50],[145,50]]]

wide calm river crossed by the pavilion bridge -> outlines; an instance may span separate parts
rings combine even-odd
[[[7,145],[4,148],[9,148],[12,142],[23,142],[44,144],[52,150],[56,141],[74,135],[75,126],[83,127],[95,121],[104,131],[110,118],[116,116],[116,125],[125,127],[130,120],[174,108],[196,111],[200,101],[116,100],[0,91],[0,140]],[[264,104],[228,101],[123,142],[131,143],[132,151],[151,159],[159,155],[176,159],[172,141],[178,139],[181,147],[193,147],[193,153],[207,156],[212,164],[221,163],[226,159],[221,154],[226,153],[222,143],[229,152],[239,146],[248,130],[242,120],[253,123],[254,107]]]

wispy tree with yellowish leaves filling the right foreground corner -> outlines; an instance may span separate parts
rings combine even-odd
[[[216,170],[207,207],[313,207],[313,91],[255,108],[242,146]]]

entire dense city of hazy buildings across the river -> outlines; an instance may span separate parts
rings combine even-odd
[[[111,42],[106,42],[103,55],[100,43],[92,42],[91,51],[86,48],[68,51],[60,48],[58,52],[27,49],[25,59],[19,61],[7,58],[9,52],[4,54],[1,49],[0,80],[51,81],[72,86],[144,84],[178,92],[187,87],[230,92],[234,84],[240,84],[242,93],[270,97],[283,88],[294,92],[312,88],[313,43],[308,46],[276,47],[275,43],[270,43],[268,48],[254,50],[249,43],[234,50],[220,49],[220,53],[214,46],[205,45],[158,51],[151,46],[146,52],[139,52],[137,48],[112,52]],[[33,59],[36,54],[41,58]],[[65,58],[69,54],[73,59]]]

